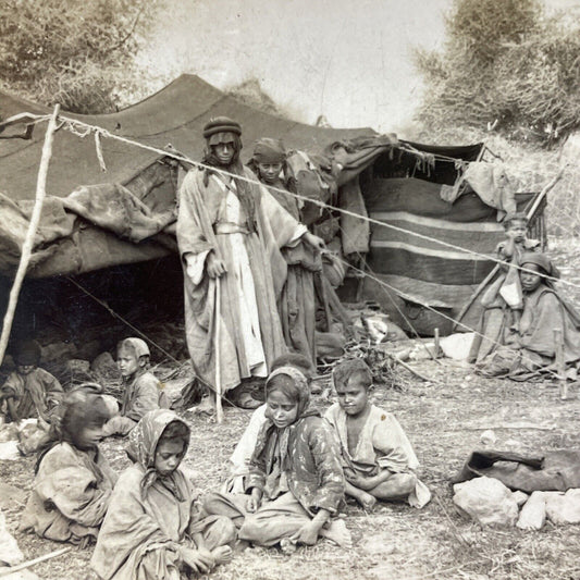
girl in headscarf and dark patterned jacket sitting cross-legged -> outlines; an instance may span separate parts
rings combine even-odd
[[[350,545],[342,519],[331,521],[344,498],[338,448],[329,424],[309,406],[306,377],[281,367],[266,382],[266,417],[251,458],[245,494],[211,493],[206,511],[225,515],[239,540],[262,546],[313,545],[319,536]]]

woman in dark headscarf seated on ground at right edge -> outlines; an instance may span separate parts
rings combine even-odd
[[[551,277],[559,277],[559,272],[544,254],[525,254],[521,268],[523,311],[519,331],[510,329],[504,344],[478,365],[482,374],[523,380],[555,370],[557,330],[567,367],[575,368],[580,361],[580,314],[553,285]]]

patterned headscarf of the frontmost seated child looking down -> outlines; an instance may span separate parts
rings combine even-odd
[[[147,495],[147,491],[157,480],[166,480],[162,483],[176,492],[176,485],[172,480],[173,473],[161,478],[156,471],[155,458],[159,440],[163,435],[166,427],[173,421],[183,423],[187,428],[187,439],[185,449],[189,446],[189,427],[174,411],[170,409],[156,409],[149,411],[131,431],[127,444],[128,456],[143,468],[141,497]]]

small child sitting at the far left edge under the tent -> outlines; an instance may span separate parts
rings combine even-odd
[[[14,359],[16,370],[10,373],[1,390],[8,418],[11,421],[38,418],[48,432],[63,396],[62,386],[50,372],[38,367],[40,345],[36,341],[17,345]]]

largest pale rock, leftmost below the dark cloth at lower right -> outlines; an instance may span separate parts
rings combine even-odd
[[[511,527],[518,504],[511,492],[493,478],[476,478],[454,486],[455,505],[482,526]]]

